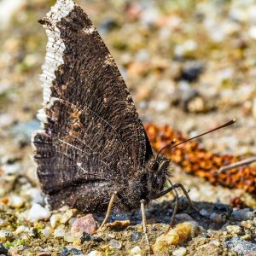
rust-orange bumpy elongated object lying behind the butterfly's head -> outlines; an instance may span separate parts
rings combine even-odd
[[[144,127],[152,147],[157,151],[170,143],[172,139],[176,139],[177,143],[187,139],[180,131],[173,130],[169,125],[145,124]],[[178,166],[182,166],[185,172],[204,177],[212,184],[243,189],[252,195],[256,195],[255,166],[239,166],[218,173],[220,167],[242,160],[242,157],[231,154],[213,154],[201,147],[196,141],[181,144],[177,148],[172,148],[172,152],[166,151],[164,154],[166,157],[172,158]]]

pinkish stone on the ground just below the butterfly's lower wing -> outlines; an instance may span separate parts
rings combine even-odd
[[[96,230],[97,224],[92,214],[87,214],[81,218],[77,218],[71,226],[71,233],[86,232],[92,235]]]

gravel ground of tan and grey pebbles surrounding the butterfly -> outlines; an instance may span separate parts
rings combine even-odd
[[[110,221],[120,222],[90,236],[84,230],[100,224],[103,215],[83,218],[75,210],[50,212],[45,206],[35,181],[30,134],[39,127],[38,73],[46,45],[37,20],[54,1],[7,3],[0,1],[0,254],[147,254],[140,212],[113,214]],[[236,118],[236,125],[203,137],[201,144],[218,154],[255,155],[254,1],[78,3],[118,63],[143,122],[169,124],[191,137]],[[205,217],[181,198],[177,225],[164,236],[172,195],[153,202],[147,217],[155,255],[256,253],[255,196],[214,187],[177,166],[173,182],[190,190]],[[234,197],[248,207],[232,209]],[[90,225],[74,232],[81,218],[90,218]]]

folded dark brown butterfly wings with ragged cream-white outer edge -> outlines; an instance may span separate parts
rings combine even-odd
[[[53,208],[96,212],[113,183],[143,170],[152,149],[124,79],[83,10],[57,0],[39,22],[49,41],[38,112],[43,127],[32,139],[38,180]]]

